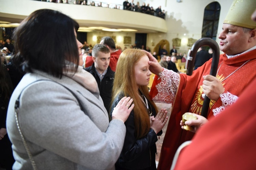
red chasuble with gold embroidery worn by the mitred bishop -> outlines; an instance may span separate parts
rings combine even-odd
[[[222,82],[225,92],[230,92],[233,95],[240,96],[241,91],[253,80],[256,75],[256,50],[247,52],[233,58],[227,58],[226,54],[222,54],[219,58],[218,73],[216,77]],[[249,61],[248,61],[249,60]],[[180,121],[182,115],[186,112],[201,113],[203,98],[202,82],[203,75],[210,73],[210,59],[203,66],[193,71],[191,76],[180,74],[180,84],[177,90],[172,113],[167,126],[165,138],[161,148],[161,154],[158,164],[159,170],[170,169],[172,159],[177,148],[185,141],[191,140],[194,133],[181,129]],[[245,63],[247,62],[247,63]],[[244,64],[245,63],[245,64]],[[244,65],[243,65],[244,64]],[[242,66],[243,65],[243,66]],[[240,69],[238,69],[242,66]],[[156,85],[161,81],[155,76],[150,96],[153,98],[158,91]],[[224,93],[225,93],[224,92]],[[167,97],[168,98],[168,97]],[[216,102],[211,101],[208,112],[208,119],[214,118],[213,109],[222,106],[222,101],[219,98]]]

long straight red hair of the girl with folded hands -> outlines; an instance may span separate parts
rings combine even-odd
[[[145,136],[150,129],[149,115],[145,104],[138,94],[138,85],[135,81],[134,72],[134,65],[145,55],[146,53],[139,49],[126,49],[121,53],[116,65],[112,91],[112,103],[119,93],[133,98],[133,103],[135,104],[133,108],[134,126],[137,139]],[[157,112],[155,103],[150,100],[147,86],[139,86],[139,89]]]

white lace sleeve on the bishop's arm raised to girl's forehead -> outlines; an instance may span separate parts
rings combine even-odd
[[[153,98],[153,101],[173,103],[179,87],[180,75],[172,70],[163,69],[159,76],[161,82],[156,85],[158,94]]]

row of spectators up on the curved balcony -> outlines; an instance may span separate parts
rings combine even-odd
[[[47,1],[47,2],[54,2],[54,3],[69,3],[68,0],[36,0],[36,1]],[[95,4],[94,1],[89,1],[88,0],[74,0],[72,1],[73,4],[79,4],[79,5],[90,5],[90,6],[99,6],[99,7],[110,7],[109,3],[105,3],[102,6],[102,2],[99,2],[97,4]],[[114,9],[120,9],[121,5],[114,5]],[[147,5],[145,4],[145,2],[142,3],[142,5],[140,6],[140,3],[137,2],[136,4],[133,2],[133,0],[131,0],[131,2],[128,2],[128,0],[125,0],[123,2],[123,10],[128,10],[128,11],[134,11],[134,12],[140,12],[140,13],[144,13],[144,14],[149,14],[149,15],[153,15],[153,16],[157,16],[160,18],[165,19],[165,15],[166,12],[165,10],[161,10],[161,6],[158,6],[157,8],[154,8],[153,6],[150,6],[150,4],[148,3]]]

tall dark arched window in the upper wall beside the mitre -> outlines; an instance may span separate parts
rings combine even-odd
[[[220,12],[221,6],[218,2],[212,2],[205,7],[203,15],[202,38],[207,37],[216,40]]]

